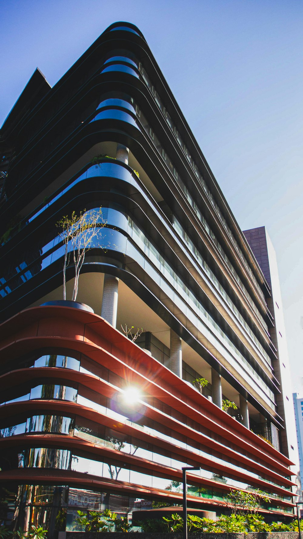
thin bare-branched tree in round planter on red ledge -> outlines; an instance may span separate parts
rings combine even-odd
[[[106,220],[102,217],[102,209],[82,210],[79,215],[72,212],[71,217],[63,216],[56,226],[61,229],[59,237],[63,241],[64,264],[63,264],[63,299],[66,299],[66,268],[70,264],[72,253],[75,280],[72,301],[75,301],[78,294],[78,283],[81,267],[83,265],[85,254],[92,248],[92,240],[99,234],[99,230],[105,227]]]

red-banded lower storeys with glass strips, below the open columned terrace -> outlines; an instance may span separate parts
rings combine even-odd
[[[23,329],[18,331],[18,327]],[[287,490],[293,485],[288,479],[291,472],[287,466],[291,463],[284,455],[233,420],[98,315],[68,307],[31,308],[2,324],[0,338],[1,367],[4,367],[4,357],[16,365],[18,358],[24,354],[27,357],[30,351],[36,357],[35,362],[32,360],[34,367],[5,372],[0,377],[2,391],[28,383],[36,386],[36,381],[43,379],[45,388],[56,383],[61,386],[78,384],[78,395],[81,392],[85,395],[81,389],[85,388],[85,391],[107,399],[106,406],[83,397],[77,403],[62,398],[36,398],[0,406],[0,441],[3,450],[9,450],[13,457],[16,451],[20,453],[20,446],[23,447],[19,469],[4,468],[0,473],[0,483],[10,480],[18,484],[26,481],[28,484],[38,480],[58,485],[60,478],[70,487],[93,486],[102,489],[106,486],[114,492],[122,488],[125,488],[125,492],[135,492],[141,483],[143,490],[148,489],[148,492],[161,497],[162,492],[168,492],[164,490],[164,483],[172,479],[178,481],[181,478],[180,468],[189,459],[202,468],[201,472],[190,475],[190,482],[196,485],[192,499],[198,503],[205,503],[205,489],[214,493],[219,489],[224,493],[231,486],[243,488],[246,483],[270,492],[271,503],[273,506],[278,503],[280,514],[293,506],[291,492]],[[70,350],[70,354],[59,354],[58,357],[50,353],[50,366],[50,356],[39,354],[39,349],[50,348],[54,351],[56,346]],[[102,369],[109,369],[116,376],[116,384],[108,381],[106,370],[105,378],[87,371],[86,366],[81,370],[82,356],[79,369],[79,360],[76,359],[79,353],[90,357]],[[62,364],[65,366],[62,367]],[[134,414],[130,417],[125,407],[116,407],[123,387],[129,384],[141,388],[140,417]],[[153,404],[155,397],[163,403],[163,410]],[[24,420],[18,425],[17,431],[13,430],[16,415]],[[186,418],[185,422],[181,416]],[[149,421],[147,430],[144,421],[142,423],[143,417]],[[153,430],[150,430],[150,421],[153,421]],[[191,425],[188,421],[194,423]],[[81,426],[84,424],[85,428]],[[101,433],[95,433],[91,425],[96,425],[97,429],[99,425]],[[200,425],[199,429],[197,425]],[[204,433],[205,429],[214,433],[214,437]],[[169,438],[168,430],[171,432]],[[127,444],[139,449],[136,449],[136,453],[127,448],[121,452],[112,443],[113,436],[117,439],[123,436],[128,440]],[[187,440],[185,444],[181,441],[184,436]],[[150,447],[153,444],[152,452],[143,450],[146,443]],[[197,450],[197,443],[207,448],[207,452]],[[237,451],[231,446],[237,447]],[[172,459],[175,455],[174,460],[164,459],[163,455],[170,453]],[[218,453],[222,457],[217,460],[215,455]],[[73,458],[74,470],[70,469]],[[101,465],[98,462],[104,463],[102,473],[99,472]],[[118,480],[108,483],[109,478],[104,474],[108,473],[108,466],[115,464],[120,467],[122,464],[124,471]],[[94,466],[93,474],[89,472],[89,466]],[[84,472],[86,469],[88,473]],[[229,480],[226,483],[212,480],[207,472],[209,469],[225,475]],[[135,481],[136,474],[140,473],[141,480]],[[100,477],[97,478],[97,475]],[[127,481],[123,479],[126,477]],[[163,477],[167,479],[160,479]],[[177,493],[168,494],[172,499],[178,499]],[[216,494],[214,496],[210,502],[220,504]]]

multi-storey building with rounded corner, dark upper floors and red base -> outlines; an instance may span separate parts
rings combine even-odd
[[[3,519],[131,518],[180,503],[187,465],[189,507],[259,488],[290,519],[271,286],[140,30],[109,26],[53,88],[37,70],[0,134]],[[64,303],[56,224],[100,207]]]

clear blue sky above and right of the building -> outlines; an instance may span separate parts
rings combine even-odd
[[[106,27],[136,24],[242,230],[276,249],[303,395],[302,0],[0,0],[0,125],[38,66],[53,86]]]

